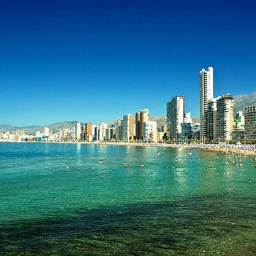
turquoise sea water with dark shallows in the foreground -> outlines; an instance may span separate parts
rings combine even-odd
[[[237,160],[198,149],[0,143],[0,253],[256,255],[255,164],[228,157]]]

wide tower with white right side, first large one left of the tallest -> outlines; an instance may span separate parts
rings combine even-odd
[[[181,123],[185,117],[184,100],[185,96],[182,95],[167,102],[167,131],[171,139],[177,139],[181,134]]]

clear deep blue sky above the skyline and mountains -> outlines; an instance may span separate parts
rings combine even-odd
[[[255,1],[1,1],[0,124],[108,122],[256,90]]]

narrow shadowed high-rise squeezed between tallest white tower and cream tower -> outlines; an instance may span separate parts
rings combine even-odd
[[[212,98],[207,105],[207,135],[205,137],[209,141],[217,139],[217,100],[219,98]]]

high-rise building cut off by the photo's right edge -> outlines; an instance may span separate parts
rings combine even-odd
[[[245,108],[245,139],[256,143],[256,106]]]

